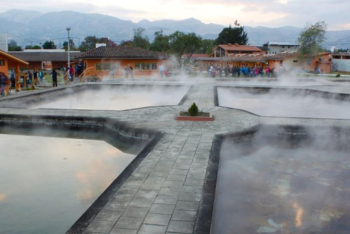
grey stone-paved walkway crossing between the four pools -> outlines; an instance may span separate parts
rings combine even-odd
[[[150,81],[135,79],[118,82]],[[167,82],[179,83],[177,80]],[[201,80],[200,83],[197,80],[191,82],[195,85],[188,92],[182,106],[146,107],[127,111],[0,108],[0,114],[103,116],[132,127],[165,133],[92,220],[84,234],[193,233],[198,207],[203,202],[204,178],[216,134],[239,132],[259,124],[350,127],[350,120],[259,117],[241,110],[216,107],[214,85],[232,83],[216,83],[209,79],[204,82]],[[211,112],[215,121],[175,121],[175,115],[186,110],[192,102],[196,102],[203,111]]]

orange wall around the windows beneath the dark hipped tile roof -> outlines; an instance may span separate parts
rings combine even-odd
[[[119,63],[119,69],[114,71],[114,77],[124,77],[125,67],[132,67],[134,76],[159,76],[158,71],[160,65],[170,69],[172,67],[172,61],[169,59],[83,59],[86,64],[86,68],[95,67],[96,63]],[[156,70],[136,70],[135,63],[157,63]],[[97,72],[97,75],[101,78],[109,77],[110,71]]]

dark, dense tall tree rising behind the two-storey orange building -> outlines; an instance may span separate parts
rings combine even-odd
[[[241,26],[237,20],[235,21],[235,27],[232,28],[229,25],[228,28],[224,28],[219,36],[215,39],[216,45],[221,44],[238,44],[238,45],[247,45],[248,44],[248,35],[244,31],[244,27]]]

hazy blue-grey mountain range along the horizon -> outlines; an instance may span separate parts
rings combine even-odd
[[[200,20],[189,18],[185,20],[141,20],[132,22],[113,16],[96,13],[79,13],[73,11],[61,11],[41,13],[38,11],[26,11],[12,9],[0,13],[0,32],[7,32],[9,40],[15,40],[22,47],[25,45],[37,45],[45,40],[52,40],[57,45],[62,45],[67,38],[66,27],[70,27],[70,35],[78,45],[85,36],[109,37],[116,43],[122,40],[130,40],[133,37],[133,29],[143,27],[145,35],[150,41],[154,38],[154,32],[163,30],[165,34],[171,34],[176,30],[188,33],[194,32],[203,39],[215,39],[222,31],[223,25],[204,24]],[[267,41],[295,42],[301,28],[284,26],[278,28],[245,26],[250,45],[261,46]],[[327,31],[326,48],[336,46],[350,48],[350,30]]]

